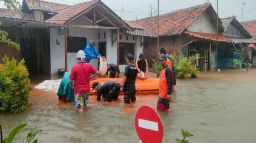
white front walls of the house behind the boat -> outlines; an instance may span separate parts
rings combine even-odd
[[[106,38],[104,39],[104,32],[106,32]],[[100,33],[100,39],[98,39],[98,33]],[[82,28],[69,28],[69,36],[73,37],[85,37],[87,38],[87,43],[91,39],[95,40],[96,43],[96,50],[98,50],[98,42],[106,42],[106,57],[107,57],[107,63],[114,63],[117,64],[117,40],[114,42],[113,46],[111,45],[112,39],[111,39],[111,30],[106,29],[82,29]],[[114,38],[116,38],[116,35],[114,34]],[[126,35],[122,34],[122,39],[120,39],[120,42],[125,43],[135,43],[135,51],[136,57],[140,53],[142,53],[143,48],[140,47],[140,40],[141,37],[136,37],[135,40],[133,40],[133,36],[129,36],[128,40],[126,40]],[[51,74],[57,74],[58,68],[65,68],[65,41],[63,35],[58,35],[56,28],[50,28],[50,45],[51,45]],[[56,39],[60,42],[59,45],[56,44]],[[70,71],[72,69],[72,66],[76,64],[76,53],[67,53],[67,68]],[[98,68],[98,60],[92,59],[91,64],[95,68]],[[120,65],[120,71],[123,72],[126,65]]]

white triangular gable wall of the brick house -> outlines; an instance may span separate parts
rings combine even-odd
[[[189,27],[188,31],[216,34],[216,28],[206,12],[203,12]]]

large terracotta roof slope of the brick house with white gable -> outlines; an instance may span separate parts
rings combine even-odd
[[[180,9],[160,15],[159,35],[170,36],[182,33],[194,20],[198,18],[211,4],[197,5],[187,9]],[[157,17],[130,21],[143,29],[157,35]]]

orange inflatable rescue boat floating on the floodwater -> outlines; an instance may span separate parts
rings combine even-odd
[[[93,82],[105,82],[105,81],[116,81],[122,82],[122,78],[98,78],[91,80],[90,86],[93,86]],[[158,94],[159,91],[159,79],[147,78],[147,79],[136,79],[135,83],[136,94]],[[97,91],[91,89],[90,95],[97,95]],[[123,92],[120,92],[120,95],[123,95]]]

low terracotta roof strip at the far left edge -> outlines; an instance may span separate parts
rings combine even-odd
[[[34,20],[34,17],[30,13],[20,13],[19,11],[13,11],[9,9],[0,8],[0,17],[16,18],[20,20]]]

